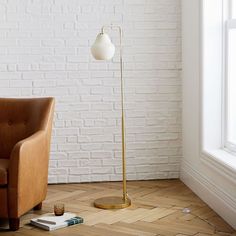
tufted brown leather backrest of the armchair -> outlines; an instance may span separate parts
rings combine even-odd
[[[53,98],[0,98],[0,159],[10,158],[15,144],[46,129]]]

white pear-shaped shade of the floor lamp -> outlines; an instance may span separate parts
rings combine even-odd
[[[115,46],[106,33],[98,34],[91,47],[91,53],[96,60],[110,60],[115,54]]]

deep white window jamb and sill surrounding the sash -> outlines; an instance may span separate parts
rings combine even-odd
[[[201,163],[235,182],[236,158],[224,148],[225,1],[201,0],[199,152]]]

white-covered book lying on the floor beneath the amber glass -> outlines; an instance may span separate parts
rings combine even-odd
[[[83,223],[83,218],[76,216],[73,213],[64,213],[62,216],[55,216],[53,213],[48,213],[30,220],[30,223],[41,229],[48,231],[64,228],[70,225]]]

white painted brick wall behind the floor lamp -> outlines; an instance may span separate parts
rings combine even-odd
[[[179,176],[180,15],[180,0],[0,1],[1,96],[56,98],[49,182],[121,179],[119,55],[90,55],[110,23],[124,29],[128,179]]]

